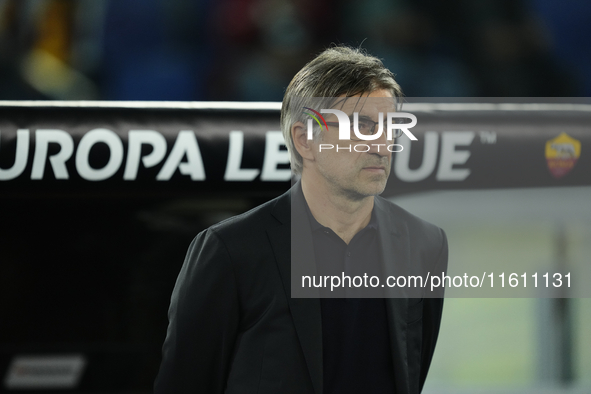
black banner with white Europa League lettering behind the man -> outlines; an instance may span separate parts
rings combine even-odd
[[[416,140],[396,139],[384,196],[591,183],[589,104],[424,100],[403,105]],[[271,197],[291,179],[279,115],[280,103],[2,102],[0,191]]]

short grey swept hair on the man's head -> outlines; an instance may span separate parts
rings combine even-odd
[[[302,99],[327,97],[323,108],[330,108],[335,97],[351,97],[380,89],[390,90],[396,101],[403,96],[394,74],[380,59],[363,49],[334,46],[306,64],[289,83],[281,106],[281,130],[292,171],[301,174],[303,169],[302,156],[295,149],[291,135],[294,123],[305,124]],[[318,135],[316,130],[314,135]]]

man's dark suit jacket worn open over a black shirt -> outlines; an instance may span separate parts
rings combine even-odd
[[[172,294],[155,394],[322,393],[320,301],[290,296],[291,194],[195,237]],[[387,229],[380,231],[383,256],[396,265],[446,269],[441,229],[380,197],[374,209],[379,228]],[[386,303],[396,391],[419,393],[443,300]]]

